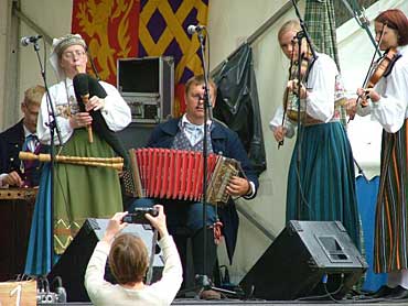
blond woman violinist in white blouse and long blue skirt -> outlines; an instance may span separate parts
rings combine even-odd
[[[288,59],[298,58],[296,36],[300,30],[299,22],[290,20],[278,32],[279,44]],[[325,54],[316,53],[318,58],[311,63],[312,55],[305,40],[302,40],[301,52],[310,63],[301,73],[309,75],[303,76],[301,85],[294,79],[287,85],[292,91],[301,86],[301,122],[300,131],[297,131],[301,136],[297,139],[290,162],[286,219],[339,220],[361,249],[352,149],[335,105],[340,74],[334,61]],[[269,123],[277,142],[293,136],[296,132],[297,122],[288,111],[291,109],[279,107]],[[282,120],[284,112],[287,120]]]

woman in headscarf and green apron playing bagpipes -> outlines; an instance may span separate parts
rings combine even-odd
[[[108,128],[116,132],[130,123],[130,109],[118,90],[105,81],[99,81],[99,84],[105,89],[106,97],[90,95],[85,110],[79,108],[73,79],[76,75],[86,72],[88,57],[85,41],[78,34],[54,39],[50,62],[58,78],[58,83],[50,88],[51,103],[55,110],[56,125],[62,142],[60,143],[57,133],[55,133],[55,154],[104,159],[116,156],[112,147],[99,133],[93,132],[90,142],[87,127],[92,124],[93,117],[89,111],[100,111]],[[45,95],[41,103],[37,134],[40,141],[46,144],[51,142],[49,123],[52,118],[49,110]],[[42,182],[25,265],[25,273],[31,275],[44,274],[52,265],[50,262],[44,265],[44,260],[41,263],[41,255],[45,258],[52,255],[46,250],[51,244],[46,241],[46,230],[42,231],[44,226],[41,228],[39,223],[44,221],[41,218],[44,218],[43,215],[49,211],[45,203],[51,209],[50,187],[45,187],[50,183],[50,175],[44,174]],[[53,216],[50,218],[53,218],[53,251],[55,254],[62,254],[65,251],[87,218],[109,218],[122,210],[119,176],[117,170],[112,167],[55,163],[53,188]],[[45,220],[45,223],[47,221],[50,220]]]

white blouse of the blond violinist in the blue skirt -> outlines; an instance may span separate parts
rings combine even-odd
[[[329,55],[323,53],[318,53],[316,55],[318,59],[310,70],[307,84],[308,97],[305,111],[314,119],[329,122],[334,114],[334,91],[339,69]],[[282,118],[283,106],[279,106],[272,120],[269,122],[269,128],[273,131],[279,125],[282,125]],[[287,120],[284,127],[288,129],[286,135],[291,138],[294,134],[296,124]]]

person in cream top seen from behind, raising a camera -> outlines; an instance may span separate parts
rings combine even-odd
[[[118,234],[128,223],[122,219],[128,212],[117,212],[109,220],[104,238],[97,243],[85,273],[85,287],[94,305],[170,305],[182,283],[182,265],[173,238],[169,236],[165,215],[161,205],[159,214],[144,217],[160,234],[163,251],[162,278],[146,285],[143,277],[149,265],[144,242],[131,233]],[[105,264],[109,264],[118,284],[104,280]]]

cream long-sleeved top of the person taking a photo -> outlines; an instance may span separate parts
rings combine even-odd
[[[140,289],[112,285],[104,280],[106,259],[110,245],[104,241],[96,244],[85,273],[85,287],[94,305],[170,305],[183,281],[183,269],[178,249],[171,236],[162,237],[159,245],[164,256],[162,278]]]

